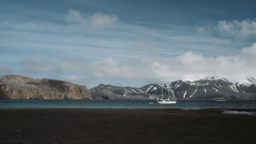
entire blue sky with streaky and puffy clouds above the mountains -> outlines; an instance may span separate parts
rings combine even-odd
[[[0,76],[140,88],[256,78],[255,0],[0,0]]]

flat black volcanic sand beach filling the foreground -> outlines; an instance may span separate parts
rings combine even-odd
[[[0,144],[255,144],[256,115],[221,110],[0,109]]]

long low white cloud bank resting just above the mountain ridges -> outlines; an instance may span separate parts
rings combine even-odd
[[[186,52],[170,59],[141,57],[118,62],[109,57],[91,63],[83,57],[71,56],[64,57],[56,63],[35,55],[20,61],[18,65],[23,67],[19,73],[24,76],[41,75],[85,85],[90,85],[95,79],[102,79],[100,83],[104,83],[103,80],[111,80],[115,83],[121,80],[125,84],[134,79],[157,83],[202,76],[221,76],[228,80],[240,81],[246,76],[256,77],[255,55],[256,43],[242,48],[240,55],[236,56],[206,57],[202,54]]]

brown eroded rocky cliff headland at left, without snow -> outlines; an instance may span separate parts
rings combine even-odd
[[[0,99],[92,99],[86,86],[48,78],[2,76]]]

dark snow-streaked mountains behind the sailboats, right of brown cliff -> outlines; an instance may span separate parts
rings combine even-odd
[[[232,99],[256,98],[256,79],[247,77],[242,82],[230,82],[218,76],[177,80],[168,84],[148,84],[141,88],[118,87],[100,84],[90,88],[94,99],[155,99],[162,94],[168,96],[168,86],[178,99],[212,99],[223,94],[222,84]]]

